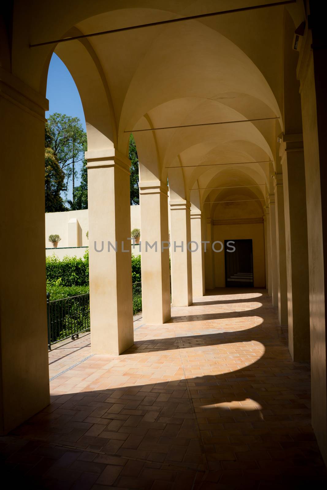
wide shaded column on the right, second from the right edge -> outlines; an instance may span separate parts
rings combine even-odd
[[[310,360],[309,263],[302,134],[283,135],[288,345],[294,361]]]

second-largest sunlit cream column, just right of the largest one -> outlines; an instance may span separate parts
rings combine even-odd
[[[168,187],[140,182],[142,315],[145,323],[171,318],[168,235]],[[153,245],[154,244],[154,245]]]

